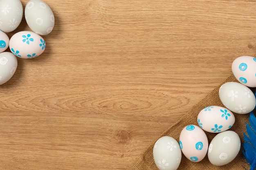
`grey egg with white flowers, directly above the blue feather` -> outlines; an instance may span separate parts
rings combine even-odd
[[[221,102],[232,112],[250,113],[256,106],[256,98],[251,89],[237,82],[227,82],[220,86]]]

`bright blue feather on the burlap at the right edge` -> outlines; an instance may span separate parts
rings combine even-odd
[[[244,133],[245,143],[243,144],[243,155],[250,163],[251,169],[256,169],[256,117],[250,113],[249,124],[246,123],[246,132]]]

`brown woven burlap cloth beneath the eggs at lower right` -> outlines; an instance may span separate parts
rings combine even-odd
[[[256,57],[256,55],[254,55]],[[230,75],[222,84],[226,82],[238,82],[234,75]],[[163,136],[170,136],[176,139],[176,141],[179,141],[180,138],[180,132],[182,129],[189,125],[189,124],[194,124],[198,125],[197,123],[197,116],[198,113],[205,107],[207,106],[222,106],[225,107],[222,102],[220,101],[219,98],[219,88],[222,85],[220,84],[218,87],[216,87],[209,95],[207,95],[204,99],[202,99],[198,104],[193,106],[191,110],[189,110],[188,113],[186,113],[179,121],[177,121],[173,126],[169,127],[167,130],[165,130],[157,139]],[[253,93],[255,93],[256,88],[250,88]],[[255,111],[255,110],[254,110]],[[245,122],[248,122],[249,119],[249,114],[245,115],[240,115],[237,113],[234,113],[236,121],[234,126],[230,128],[229,130],[235,131],[240,139],[241,143],[243,144],[243,132],[246,132],[246,124]],[[205,132],[209,144],[213,137],[216,136],[215,133],[210,133],[210,132]],[[141,154],[139,159],[132,165],[130,168],[127,170],[158,170],[157,166],[155,165],[154,159],[153,159],[153,147],[155,142],[152,142],[148,148]],[[182,154],[182,160],[180,163],[180,166],[178,170],[249,170],[249,164],[245,161],[243,158],[243,153],[242,153],[243,145],[241,147],[241,150],[238,154],[238,156],[228,163],[227,165],[224,166],[214,166],[210,163],[208,160],[208,157],[206,157],[200,161],[200,162],[192,162],[189,159],[187,159],[183,154]]]

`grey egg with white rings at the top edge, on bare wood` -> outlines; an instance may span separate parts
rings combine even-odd
[[[29,28],[39,35],[47,35],[54,27],[52,9],[42,0],[30,0],[25,7],[25,19]]]

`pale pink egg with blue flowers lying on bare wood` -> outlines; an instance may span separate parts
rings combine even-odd
[[[20,31],[11,37],[9,48],[17,57],[30,59],[45,51],[45,40],[34,32]]]

